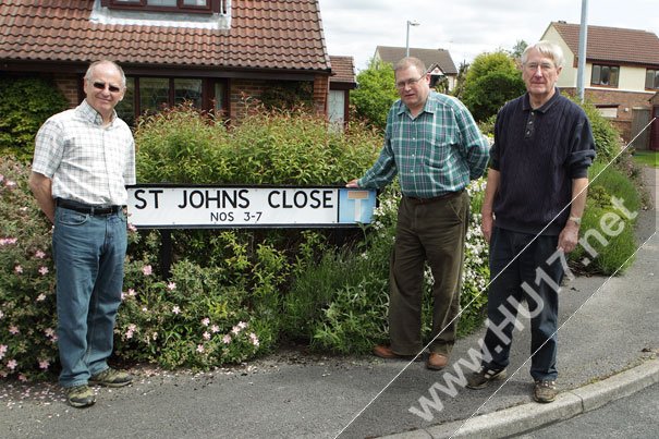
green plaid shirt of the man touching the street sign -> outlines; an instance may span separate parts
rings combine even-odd
[[[465,188],[488,159],[489,143],[466,107],[430,92],[416,118],[401,100],[393,103],[380,157],[358,185],[382,187],[398,174],[403,195],[431,198]]]

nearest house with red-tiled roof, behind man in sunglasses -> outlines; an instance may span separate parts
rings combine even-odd
[[[131,123],[183,100],[235,120],[245,97],[273,89],[328,114],[330,89],[351,81],[332,84],[317,0],[5,0],[0,35],[2,81],[48,77],[72,107],[89,62],[117,61],[129,86],[117,110]]]

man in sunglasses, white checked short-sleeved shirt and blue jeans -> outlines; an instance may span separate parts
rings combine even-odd
[[[89,65],[85,100],[39,129],[29,186],[54,224],[60,385],[69,403],[95,403],[89,385],[126,386],[108,366],[126,253],[125,185],[135,184],[135,143],[114,107],[126,89],[111,61]]]

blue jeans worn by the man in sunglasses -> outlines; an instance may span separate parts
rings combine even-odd
[[[57,272],[60,385],[86,385],[108,368],[126,254],[126,218],[57,207],[52,249]]]

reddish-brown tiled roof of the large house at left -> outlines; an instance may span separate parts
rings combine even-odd
[[[0,59],[88,62],[112,41],[120,63],[330,70],[318,0],[234,0],[231,29],[89,21],[94,0],[0,2]]]

